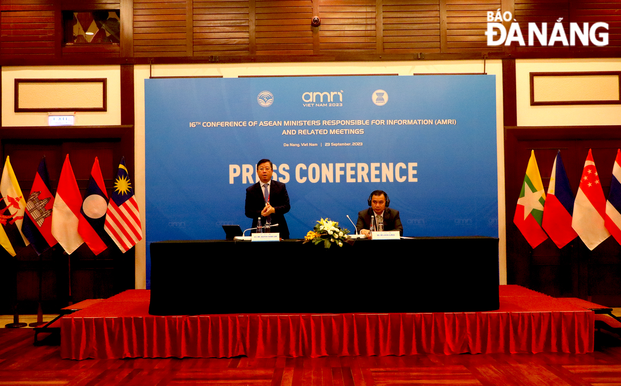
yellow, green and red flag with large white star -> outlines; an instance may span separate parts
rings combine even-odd
[[[537,167],[535,151],[531,150],[513,222],[533,248],[548,238],[542,229],[544,204],[545,192],[543,192],[542,177]]]

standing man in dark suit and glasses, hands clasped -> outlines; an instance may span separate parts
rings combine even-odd
[[[283,239],[289,238],[289,227],[284,219],[284,213],[291,209],[287,188],[282,182],[271,179],[273,165],[269,159],[261,159],[256,164],[256,174],[259,181],[246,189],[246,217],[252,218],[252,228],[256,227],[259,217],[264,227],[266,223],[278,224],[271,231],[279,232]]]

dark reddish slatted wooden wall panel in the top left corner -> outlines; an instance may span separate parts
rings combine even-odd
[[[55,32],[52,7],[49,4],[8,2],[2,0],[0,6],[0,54],[53,56]]]

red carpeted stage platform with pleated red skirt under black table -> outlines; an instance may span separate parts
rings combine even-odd
[[[519,285],[501,285],[500,296],[489,312],[153,316],[149,291],[127,290],[61,318],[61,357],[593,351],[592,311]]]

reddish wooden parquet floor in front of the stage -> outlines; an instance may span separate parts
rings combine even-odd
[[[309,359],[60,359],[32,330],[0,329],[0,385],[621,385],[621,341],[591,354],[460,354]]]

